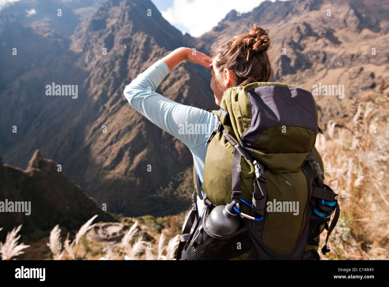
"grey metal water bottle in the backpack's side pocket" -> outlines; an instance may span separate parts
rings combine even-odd
[[[218,205],[208,215],[205,226],[214,234],[220,236],[231,235],[240,227],[239,216],[233,210],[232,202],[227,205]]]

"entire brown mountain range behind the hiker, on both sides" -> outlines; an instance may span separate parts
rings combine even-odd
[[[271,80],[308,91],[344,85],[342,99],[320,93],[315,99],[321,126],[329,119],[347,124],[350,102],[387,74],[388,15],[387,0],[266,1],[249,13],[232,10],[195,38],[182,35],[149,0],[15,2],[0,11],[0,155],[23,167],[40,149],[109,212],[182,212],[193,192],[191,153],[130,107],[123,89],[132,79],[177,47],[208,53],[214,41],[255,21],[270,30]],[[53,82],[78,85],[77,98],[47,96]],[[216,108],[209,83],[205,68],[183,62],[157,92]]]

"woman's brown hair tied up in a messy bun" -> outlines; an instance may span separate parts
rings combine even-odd
[[[246,34],[215,42],[210,49],[211,57],[215,58],[215,68],[219,73],[225,68],[230,70],[235,75],[235,87],[267,82],[271,67],[266,51],[272,48],[268,33],[254,23]],[[216,82],[221,84],[220,77]]]

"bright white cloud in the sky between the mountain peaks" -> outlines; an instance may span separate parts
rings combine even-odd
[[[232,9],[247,13],[258,7],[263,1],[174,0],[173,7],[161,11],[161,14],[173,26],[177,26],[179,29],[184,27],[191,36],[199,37],[216,26]]]

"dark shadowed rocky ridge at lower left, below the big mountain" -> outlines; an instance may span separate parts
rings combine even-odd
[[[26,170],[0,161],[0,225],[4,231],[23,224],[20,234],[36,240],[49,235],[57,224],[65,231],[77,231],[95,214],[98,221],[117,220],[58,170],[57,163],[44,159],[39,150]],[[5,235],[0,234],[0,241],[4,242]]]

